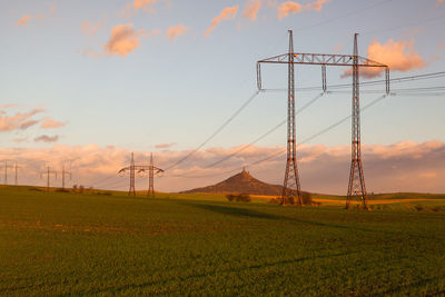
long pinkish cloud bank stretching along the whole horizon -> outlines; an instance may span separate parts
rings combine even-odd
[[[255,177],[269,184],[280,185],[286,164],[285,147],[249,147],[226,162],[206,168],[221,158],[228,157],[240,147],[209,148],[199,150],[185,162],[156,177],[156,188],[161,191],[179,191],[211,185],[230,177],[260,159],[268,160],[249,166]],[[167,168],[187,156],[189,150],[165,150],[154,155],[155,166]],[[36,177],[40,165],[52,160],[60,167],[63,160],[71,159],[75,182],[105,189],[128,188],[128,177],[115,176],[128,165],[131,151],[116,147],[53,146],[50,148],[0,148],[0,159],[17,159],[28,185],[41,182]],[[349,178],[350,147],[326,147],[305,145],[298,147],[297,157],[301,187],[304,190],[345,195]],[[149,154],[135,151],[136,164],[148,164]],[[445,143],[442,141],[404,141],[394,145],[364,145],[363,165],[369,192],[423,191],[445,192]],[[112,180],[109,181],[110,176]],[[108,181],[103,180],[108,177]],[[419,181],[422,178],[422,182]],[[137,189],[146,189],[146,177],[137,177]]]

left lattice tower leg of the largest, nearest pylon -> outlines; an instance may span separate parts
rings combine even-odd
[[[297,196],[301,205],[301,194],[297,166],[297,141],[295,125],[295,71],[294,71],[294,36],[289,30],[289,61],[288,61],[288,98],[287,98],[287,161],[285,180],[283,182],[281,204],[287,198]]]

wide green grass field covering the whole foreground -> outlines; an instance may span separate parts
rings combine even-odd
[[[0,295],[445,295],[445,197],[379,198],[395,202],[0,188]]]

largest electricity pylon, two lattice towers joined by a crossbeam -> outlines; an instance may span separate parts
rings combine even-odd
[[[354,37],[354,55],[328,55],[328,53],[296,53],[294,52],[293,31],[289,30],[289,52],[267,58],[257,62],[257,86],[263,90],[261,63],[285,63],[288,65],[288,108],[287,108],[287,162],[285,180],[281,192],[281,204],[294,192],[298,196],[298,202],[301,204],[301,192],[299,185],[299,175],[296,159],[296,125],[295,125],[295,76],[294,65],[318,65],[322,66],[323,91],[327,90],[326,66],[346,66],[353,67],[353,151],[352,170],[348,186],[348,196],[346,198],[346,208],[349,207],[352,199],[358,198],[364,208],[366,205],[365,178],[362,167],[360,152],[360,113],[359,113],[359,89],[358,89],[358,69],[359,67],[383,68],[386,76],[386,93],[389,93],[389,68],[386,65],[363,58],[358,56],[357,34]],[[359,164],[359,166],[358,166]],[[357,178],[358,172],[358,178]]]

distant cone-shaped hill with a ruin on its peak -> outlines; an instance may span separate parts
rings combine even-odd
[[[228,179],[218,182],[212,186],[196,188],[182,194],[192,192],[218,192],[218,194],[237,194],[245,192],[249,195],[267,195],[267,196],[279,196],[281,194],[283,186],[270,185],[254,178],[249,171],[243,169],[240,174],[237,174]]]

